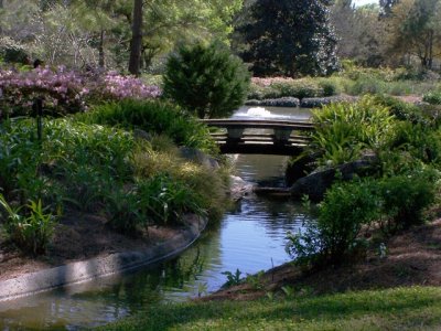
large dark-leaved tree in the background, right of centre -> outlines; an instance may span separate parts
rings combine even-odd
[[[325,75],[337,68],[329,0],[257,0],[239,28],[256,75]]]

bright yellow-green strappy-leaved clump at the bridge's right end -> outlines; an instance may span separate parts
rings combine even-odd
[[[356,104],[326,105],[313,111],[312,120],[310,153],[319,154],[320,163],[333,166],[359,158],[363,149],[381,149],[395,125],[388,108],[368,96]]]

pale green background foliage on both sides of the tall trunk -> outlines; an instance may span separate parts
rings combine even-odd
[[[3,0],[1,30],[32,57],[47,64],[127,70],[132,44],[133,0]],[[228,42],[243,0],[150,0],[142,3],[140,67],[176,43]],[[138,3],[139,4],[139,3]]]

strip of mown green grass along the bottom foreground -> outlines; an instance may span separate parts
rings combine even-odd
[[[435,330],[441,288],[149,307],[103,330]]]

